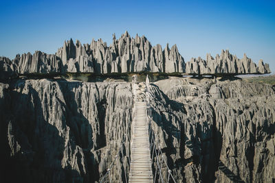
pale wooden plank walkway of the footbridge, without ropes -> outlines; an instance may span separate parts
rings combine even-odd
[[[134,105],[129,182],[153,182],[146,102]]]

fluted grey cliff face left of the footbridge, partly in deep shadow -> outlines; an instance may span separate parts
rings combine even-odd
[[[131,84],[19,80],[1,84],[0,94],[7,180],[94,182],[124,138],[121,156],[129,156],[124,134],[131,131]],[[129,164],[116,168],[128,171]],[[113,181],[122,177],[112,171]]]

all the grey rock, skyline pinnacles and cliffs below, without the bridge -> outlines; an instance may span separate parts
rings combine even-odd
[[[69,40],[56,54],[0,58],[3,182],[99,182],[118,156],[111,180],[126,182],[132,82],[15,76],[143,72],[223,76],[169,76],[146,87],[152,129],[177,182],[274,182],[274,86],[234,76],[270,73],[268,64],[229,51],[184,62],[176,46],[162,50],[127,32],[110,47]]]

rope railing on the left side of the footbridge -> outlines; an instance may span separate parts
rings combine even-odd
[[[112,180],[112,178],[113,178],[112,169],[114,168],[114,166],[117,166],[116,168],[118,170],[118,173],[116,173],[116,174],[118,174],[118,178],[119,178],[120,182],[126,182],[126,183],[128,182],[127,175],[129,175],[129,172],[126,173],[126,165],[131,164],[131,158],[130,158],[130,154],[129,154],[129,156],[126,156],[126,154],[124,154],[124,147],[126,147],[125,144],[127,143],[126,137],[128,137],[129,143],[130,143],[131,138],[129,136],[129,131],[128,131],[128,133],[124,134],[124,138],[123,138],[122,142],[120,143],[120,147],[118,148],[118,152],[115,155],[115,158],[113,159],[111,164],[109,165],[109,167],[107,169],[107,172],[104,173],[102,178],[100,178],[100,181],[99,181],[100,183],[105,183],[105,182],[110,182],[111,183],[111,182],[113,182],[113,180]],[[124,167],[124,172],[123,173],[122,173],[121,167],[119,167],[120,164],[123,164],[123,167]],[[124,174],[124,178],[125,178],[124,181],[122,180],[122,174]]]

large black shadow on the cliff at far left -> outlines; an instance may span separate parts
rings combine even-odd
[[[31,86],[29,90],[28,95],[10,90],[13,118],[5,132],[20,149],[14,151],[14,143],[6,142],[11,156],[5,160],[4,182],[64,182],[66,174],[72,173],[61,167],[65,141],[57,128],[43,119],[36,90]]]

